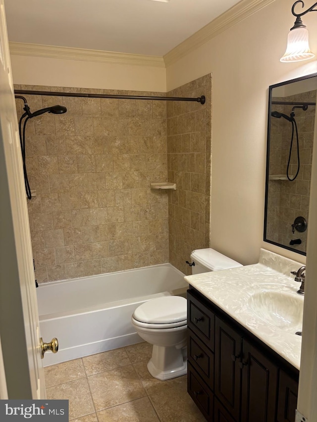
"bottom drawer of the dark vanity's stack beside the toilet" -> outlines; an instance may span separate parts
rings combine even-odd
[[[187,391],[207,421],[213,421],[213,393],[188,362]]]

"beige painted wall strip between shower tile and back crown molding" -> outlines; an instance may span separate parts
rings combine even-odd
[[[166,92],[163,67],[15,54],[10,58],[15,84]]]

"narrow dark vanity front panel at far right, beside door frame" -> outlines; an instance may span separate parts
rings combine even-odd
[[[284,371],[280,371],[277,403],[278,422],[295,422],[297,393],[298,380],[291,378]]]

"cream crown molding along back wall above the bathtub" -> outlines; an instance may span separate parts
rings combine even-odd
[[[163,57],[85,48],[45,46],[42,44],[9,43],[10,54],[50,57],[67,60],[96,61],[99,63],[128,64],[135,66],[165,67]]]

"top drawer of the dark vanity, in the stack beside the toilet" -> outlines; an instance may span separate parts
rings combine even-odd
[[[187,291],[187,325],[214,351],[214,314]]]

